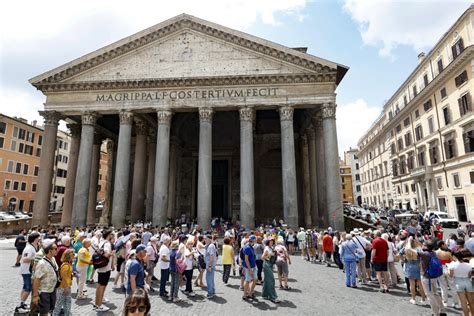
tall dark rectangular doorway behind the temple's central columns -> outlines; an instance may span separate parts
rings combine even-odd
[[[212,161],[212,217],[229,218],[229,161]]]

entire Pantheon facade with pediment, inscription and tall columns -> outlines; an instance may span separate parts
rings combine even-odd
[[[33,225],[48,221],[58,122],[62,225],[343,229],[335,90],[346,66],[182,14],[30,79],[46,96]],[[106,200],[95,216],[100,148]],[[105,145],[104,145],[105,146]]]

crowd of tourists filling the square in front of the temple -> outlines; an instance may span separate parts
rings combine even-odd
[[[112,286],[125,294],[125,315],[146,315],[151,308],[148,293],[155,291],[178,303],[195,296],[195,287],[205,286],[212,300],[218,261],[224,285],[229,285],[231,273],[238,275],[243,300],[257,300],[255,288],[261,285],[262,298],[278,304],[276,288],[291,290],[289,270],[299,251],[309,263],[338,266],[345,273],[346,287],[376,285],[381,293],[390,294],[404,279],[410,303],[429,304],[434,315],[445,314],[449,305],[471,315],[474,233],[469,240],[459,233],[441,240],[436,238],[439,232],[422,230],[421,224],[414,216],[398,232],[357,228],[338,232],[331,227],[293,230],[280,223],[252,231],[223,225],[221,234],[215,227],[205,232],[199,226],[188,230],[185,224],[174,228],[147,224],[122,229],[33,228],[15,240],[15,266],[23,279],[15,311],[71,315],[73,297],[92,296],[94,310],[107,311],[109,300],[104,293],[111,277]],[[88,293],[86,283],[96,284],[94,294]]]

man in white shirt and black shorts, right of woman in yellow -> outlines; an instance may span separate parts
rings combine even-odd
[[[104,250],[104,256],[109,259],[109,262],[105,267],[97,269],[98,281],[97,289],[95,291],[95,304],[94,309],[97,312],[106,312],[109,310],[107,306],[102,303],[107,303],[108,300],[104,298],[105,288],[110,280],[110,272],[114,264],[114,252],[112,251],[112,243],[114,242],[115,235],[112,231],[106,230],[103,234],[103,241],[99,244],[97,251]]]

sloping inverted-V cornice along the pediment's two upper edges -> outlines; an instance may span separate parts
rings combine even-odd
[[[114,58],[139,49],[145,45],[149,45],[157,40],[161,40],[164,37],[180,32],[184,29],[194,30],[213,38],[250,49],[271,58],[276,58],[316,73],[334,74],[334,81],[336,81],[337,68],[344,67],[333,64],[332,62],[331,64],[333,65],[331,66],[333,67],[330,67],[321,63],[324,62],[324,60],[320,60],[321,62],[318,62],[319,58],[314,56],[303,54],[284,46],[281,46],[280,49],[278,49],[277,45],[271,45],[270,43],[270,45],[264,45],[263,43],[260,43],[261,40],[258,38],[245,36],[244,33],[237,34],[239,32],[231,32],[231,30],[227,30],[224,27],[219,29],[220,26],[218,25],[211,23],[206,25],[205,23],[207,21],[201,21],[202,23],[199,22],[198,19],[184,15],[181,19],[178,19],[171,24],[164,25],[163,27],[160,27],[156,30],[140,34],[140,36],[132,40],[119,41],[115,45],[105,47],[105,51],[102,53],[97,51],[95,53],[86,55],[77,59],[76,61],[70,62],[69,64],[53,69],[48,73],[32,78],[30,79],[30,82],[35,87],[42,90],[48,84],[64,81],[68,78],[78,75],[79,73],[97,67],[98,65],[104,64]],[[133,36],[131,36],[131,38],[133,38]]]

